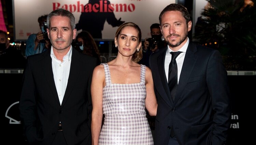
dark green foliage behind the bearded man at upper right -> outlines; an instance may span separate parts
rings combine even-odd
[[[243,0],[207,1],[194,41],[218,49],[226,69],[256,70],[256,7],[243,8]]]

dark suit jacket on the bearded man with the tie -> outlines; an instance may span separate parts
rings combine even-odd
[[[164,68],[166,51],[150,57],[158,99],[155,144],[168,144],[172,126],[180,145],[224,144],[231,111],[220,53],[189,42],[173,102]]]

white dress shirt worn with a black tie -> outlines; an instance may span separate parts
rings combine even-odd
[[[178,50],[182,53],[179,56],[177,56],[177,58],[176,58],[177,68],[178,68],[178,84],[179,84],[179,80],[180,80],[181,69],[183,66],[184,59],[185,59],[185,54],[187,51],[188,43],[189,43],[189,39],[187,38],[187,42]],[[172,55],[170,54],[170,52],[173,52],[173,51],[169,47],[169,45],[167,45],[167,52],[166,52],[166,56],[165,56],[165,75],[166,75],[167,82],[168,82],[169,64],[172,59]]]

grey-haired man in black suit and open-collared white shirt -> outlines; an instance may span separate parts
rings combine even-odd
[[[29,56],[19,102],[29,144],[91,144],[90,83],[96,58],[72,49],[75,18],[63,9],[47,17],[52,48]]]

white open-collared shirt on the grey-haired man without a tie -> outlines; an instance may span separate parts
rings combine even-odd
[[[51,48],[52,68],[55,86],[57,89],[60,105],[68,84],[70,64],[72,56],[72,46],[70,47],[67,55],[63,57],[63,62],[58,60],[53,53],[53,46]]]

